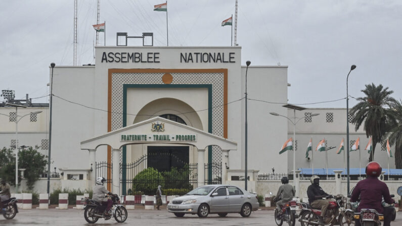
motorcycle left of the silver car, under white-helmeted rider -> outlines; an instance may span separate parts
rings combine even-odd
[[[122,223],[127,219],[127,210],[124,206],[120,205],[119,197],[108,195],[106,195],[106,197],[113,201],[113,206],[109,210],[109,215],[104,213],[106,205],[102,205],[101,203],[87,197],[81,199],[81,203],[84,205],[84,218],[86,222],[96,223],[99,218],[108,220],[112,218],[112,216],[119,223]]]

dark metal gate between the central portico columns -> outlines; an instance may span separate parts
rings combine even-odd
[[[161,179],[155,178],[151,175],[145,175],[141,178],[136,177],[138,173],[147,168],[148,155],[143,155],[136,162],[129,164],[120,164],[120,172],[124,177],[120,179],[121,191],[123,195],[128,195],[133,191],[135,184],[149,185],[155,187],[155,191],[162,183]],[[185,164],[182,168],[171,168],[170,171],[162,171],[163,175],[163,188],[162,189],[183,189],[187,188],[192,190],[197,187],[197,163]],[[125,173],[124,173],[125,172]],[[143,191],[142,191],[143,192]]]

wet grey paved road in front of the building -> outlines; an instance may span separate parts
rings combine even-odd
[[[185,215],[177,218],[166,210],[128,210],[126,222],[118,224],[113,218],[100,219],[96,224],[101,225],[266,225],[274,226],[274,211],[258,210],[251,213],[250,217],[241,217],[240,214],[228,214],[227,217],[218,217],[211,214],[207,218],[199,218],[197,215]],[[6,220],[0,216],[0,225],[93,225],[88,224],[83,217],[83,210],[49,209],[49,210],[20,210],[12,220]],[[296,225],[300,225],[297,221]],[[396,220],[391,225],[402,225],[402,212],[397,213]]]

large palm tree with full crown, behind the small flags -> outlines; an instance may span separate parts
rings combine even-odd
[[[374,83],[367,84],[362,92],[366,97],[358,98],[360,103],[356,104],[350,113],[354,115],[355,130],[357,131],[363,124],[367,137],[372,137],[373,151],[369,158],[371,162],[376,144],[382,141],[391,125],[396,123],[394,111],[391,110],[391,105],[396,101],[389,96],[393,91],[388,91],[388,87],[383,88],[381,84],[378,86]]]

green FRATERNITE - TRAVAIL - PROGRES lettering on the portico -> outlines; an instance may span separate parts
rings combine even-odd
[[[196,142],[196,134],[121,134],[120,142],[146,141],[146,142]]]

